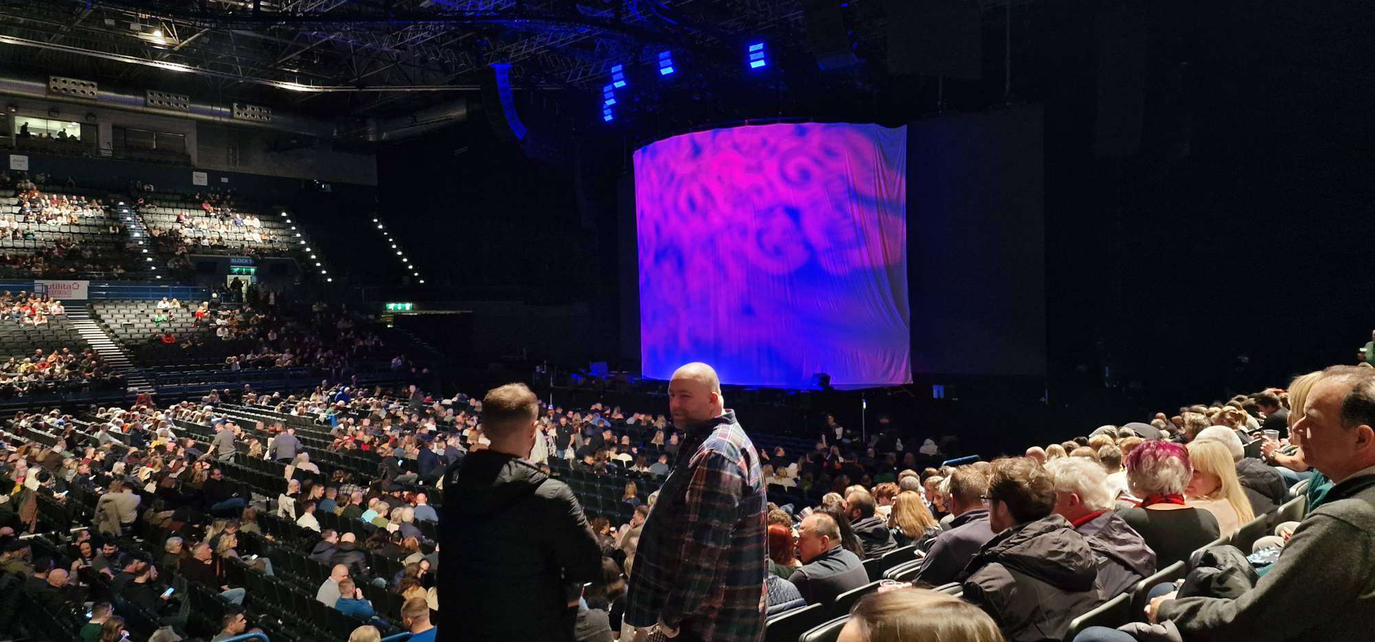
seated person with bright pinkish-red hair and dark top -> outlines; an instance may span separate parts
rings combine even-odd
[[[1189,451],[1170,441],[1143,441],[1126,458],[1126,481],[1141,505],[1118,514],[1155,551],[1160,568],[1188,560],[1195,549],[1218,538],[1213,513],[1184,502],[1192,476]]]

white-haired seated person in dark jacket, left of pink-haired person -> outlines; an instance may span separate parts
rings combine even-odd
[[[1155,551],[1112,511],[1115,502],[1101,466],[1066,458],[1045,469],[1055,481],[1055,514],[1068,520],[1097,555],[1096,588],[1103,599],[1155,573]]]

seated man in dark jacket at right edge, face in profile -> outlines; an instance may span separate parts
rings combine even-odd
[[[1299,524],[1270,571],[1235,599],[1162,595],[1152,621],[1188,642],[1365,642],[1375,631],[1375,370],[1332,366],[1313,384],[1304,417],[1304,458],[1336,483]],[[1081,642],[1132,641],[1089,628]],[[1156,638],[1141,638],[1156,639]]]

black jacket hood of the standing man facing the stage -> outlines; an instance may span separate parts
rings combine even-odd
[[[488,517],[534,495],[547,480],[547,474],[524,459],[477,451],[463,458],[444,507],[470,518]]]

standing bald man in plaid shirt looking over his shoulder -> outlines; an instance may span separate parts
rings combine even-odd
[[[641,532],[624,620],[637,641],[758,642],[769,572],[759,454],[711,366],[678,368],[668,408],[688,437]]]

